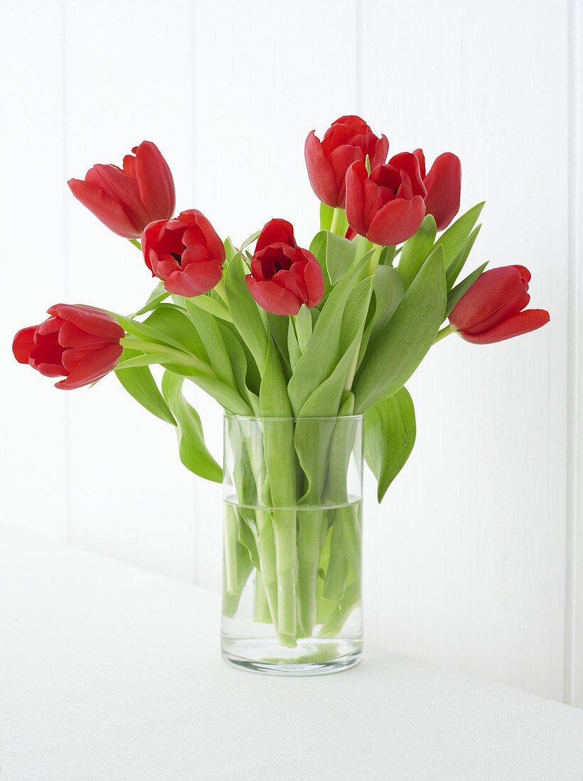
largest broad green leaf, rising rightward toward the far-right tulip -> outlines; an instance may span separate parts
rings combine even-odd
[[[417,369],[443,322],[446,295],[443,248],[437,246],[387,327],[370,340],[353,386],[356,412],[399,391]]]

